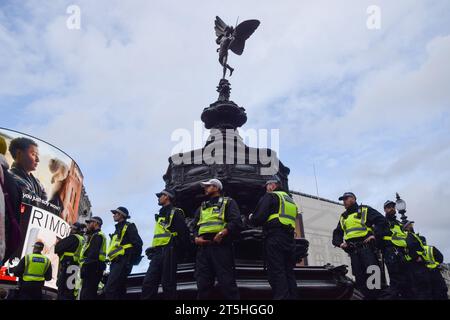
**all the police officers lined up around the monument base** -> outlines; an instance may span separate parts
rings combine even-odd
[[[198,299],[217,296],[216,280],[223,298],[240,298],[233,256],[233,240],[243,229],[238,204],[223,196],[220,180],[201,184],[207,200],[194,214],[193,230],[188,228],[183,210],[173,205],[175,195],[171,190],[156,194],[161,209],[155,215],[152,245],[145,251],[150,265],[143,280],[141,299],[156,299],[159,285],[164,299],[177,298],[177,263],[188,250],[191,231],[196,245]],[[264,231],[265,265],[273,298],[296,299],[294,257],[298,208],[278,180],[269,180],[265,188],[267,192],[249,216],[249,223],[262,226]],[[402,224],[396,220],[395,202],[386,201],[383,216],[369,206],[359,205],[351,192],[339,199],[343,200],[346,211],[333,231],[333,245],[349,254],[355,287],[365,298],[447,299],[447,287],[439,271],[442,254],[414,232],[413,222]],[[141,261],[143,243],[136,225],[128,221],[130,215],[125,207],[111,212],[116,225],[109,245],[101,231],[100,217],[87,220],[86,230],[83,225],[74,224],[71,234],[56,244],[55,253],[60,259],[58,299],[99,299],[102,286],[105,299],[125,297],[127,277]],[[42,255],[43,247],[42,242],[36,242],[33,253],[26,255],[14,270],[20,277],[20,299],[41,299],[44,282],[51,279],[51,263]],[[372,290],[367,284],[368,268],[382,266],[380,251],[390,286]],[[109,275],[104,279],[107,263]],[[74,266],[78,270],[76,277]]]

